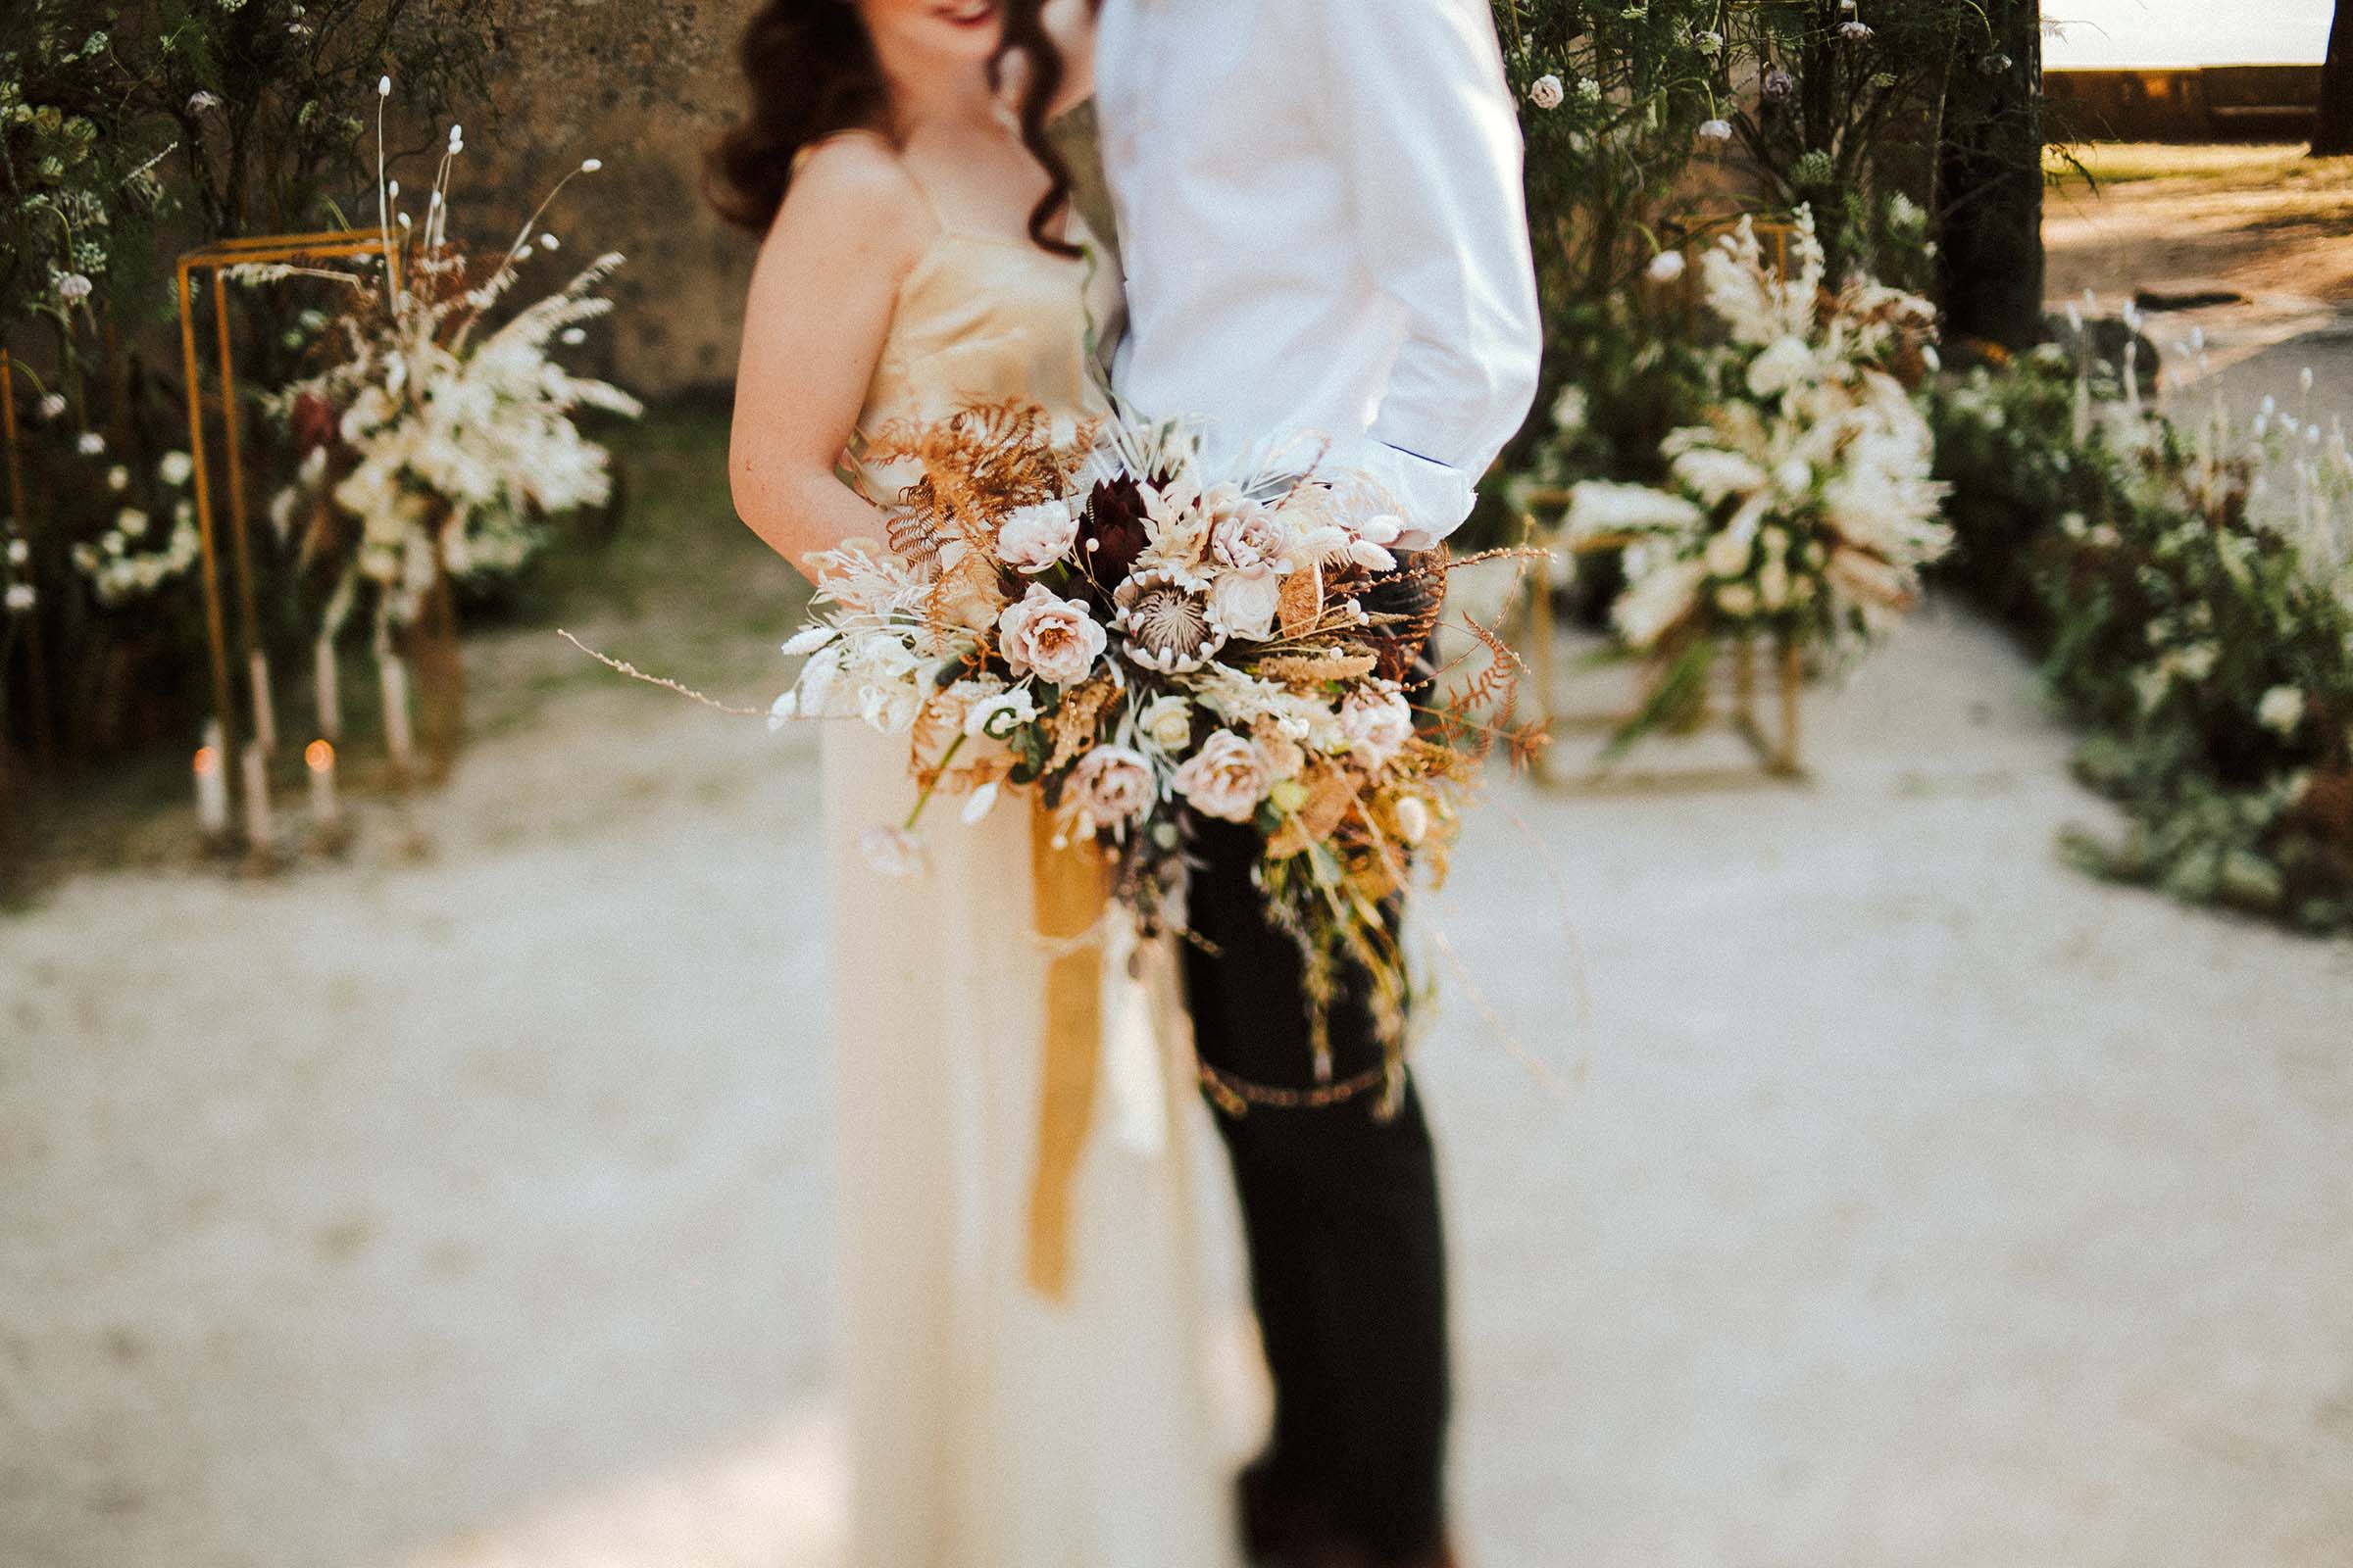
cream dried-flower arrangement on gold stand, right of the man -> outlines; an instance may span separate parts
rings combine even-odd
[[[1951,543],[1911,390],[1937,362],[1934,308],[1864,277],[1828,292],[1802,207],[1788,273],[1744,219],[1701,259],[1701,294],[1725,334],[1706,423],[1666,437],[1659,484],[1574,484],[1560,524],[1572,552],[1619,550],[1609,618],[1661,661],[1619,743],[1689,712],[1725,639],[1873,637]]]

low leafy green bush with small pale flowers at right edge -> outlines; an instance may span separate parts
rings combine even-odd
[[[2045,346],[1934,409],[1955,567],[2045,649],[2078,773],[2132,823],[2073,858],[2353,931],[2353,458],[2311,374],[2235,421]]]

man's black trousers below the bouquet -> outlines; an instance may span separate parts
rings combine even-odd
[[[1200,1058],[1278,1088],[1313,1084],[1299,947],[1249,884],[1259,835],[1200,823],[1186,947]],[[1381,1060],[1362,987],[1332,1009],[1332,1077]],[[1421,1095],[1391,1121],[1379,1093],[1322,1110],[1217,1112],[1242,1194],[1249,1288],[1275,1385],[1264,1467],[1374,1561],[1445,1533],[1449,1403],[1445,1237]]]

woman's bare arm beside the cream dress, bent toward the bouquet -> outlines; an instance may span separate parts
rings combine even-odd
[[[842,136],[809,155],[760,242],[727,480],[736,515],[795,567],[812,550],[882,534],[882,512],[840,482],[835,463],[929,226],[889,148]]]

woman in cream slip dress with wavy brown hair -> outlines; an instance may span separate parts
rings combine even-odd
[[[765,235],[729,468],[786,559],[887,534],[892,475],[854,458],[889,421],[1104,411],[1118,270],[1042,136],[1052,87],[1087,87],[1089,40],[1066,42],[1040,0],[772,0],[748,24],[751,113],[713,150],[713,200]],[[828,731],[852,1563],[1219,1568],[1172,971],[1073,969],[1040,938],[1054,851],[1026,804],[878,875],[859,839],[913,804],[906,741]],[[1085,1032],[1075,1063],[1056,1032]]]

